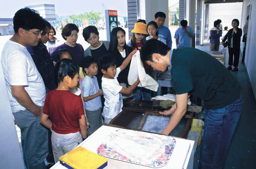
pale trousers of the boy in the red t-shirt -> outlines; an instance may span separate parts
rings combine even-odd
[[[70,152],[80,143],[82,143],[82,135],[80,131],[69,134],[59,134],[52,131],[51,145],[54,154],[55,163],[59,161],[60,156]]]

